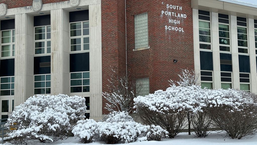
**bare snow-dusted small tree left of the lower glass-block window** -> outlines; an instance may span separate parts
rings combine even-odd
[[[135,90],[140,90],[142,85],[137,85],[138,88],[136,88],[136,81],[130,72],[120,75],[113,68],[111,78],[108,79],[108,82],[109,92],[102,92],[103,97],[108,101],[105,109],[110,112],[125,111],[131,113]]]

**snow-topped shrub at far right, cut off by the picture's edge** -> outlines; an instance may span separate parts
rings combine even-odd
[[[214,90],[208,97],[215,126],[231,138],[241,139],[257,131],[256,94],[238,90]]]

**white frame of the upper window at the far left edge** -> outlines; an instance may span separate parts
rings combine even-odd
[[[10,31],[11,30],[11,43],[2,43],[2,31]],[[13,42],[13,31],[15,31],[15,29],[7,29],[7,30],[1,30],[0,31],[0,35],[1,35],[1,38],[0,38],[0,49],[1,49],[1,54],[0,54],[0,58],[14,58],[15,57],[15,34],[14,34],[14,42]],[[11,45],[10,46],[10,57],[2,57],[2,46],[5,46],[5,45]],[[14,50],[13,50],[13,45],[14,45]],[[14,56],[13,56],[13,51],[14,51]]]

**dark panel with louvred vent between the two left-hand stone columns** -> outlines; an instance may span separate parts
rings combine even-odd
[[[51,56],[34,57],[34,75],[51,74],[51,67],[40,67],[42,62],[51,62]]]

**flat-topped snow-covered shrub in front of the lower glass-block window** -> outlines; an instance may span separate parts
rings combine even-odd
[[[166,91],[134,98],[134,108],[143,123],[159,125],[174,138],[185,125],[187,112],[201,111],[206,107],[206,93],[199,86],[172,85]]]

